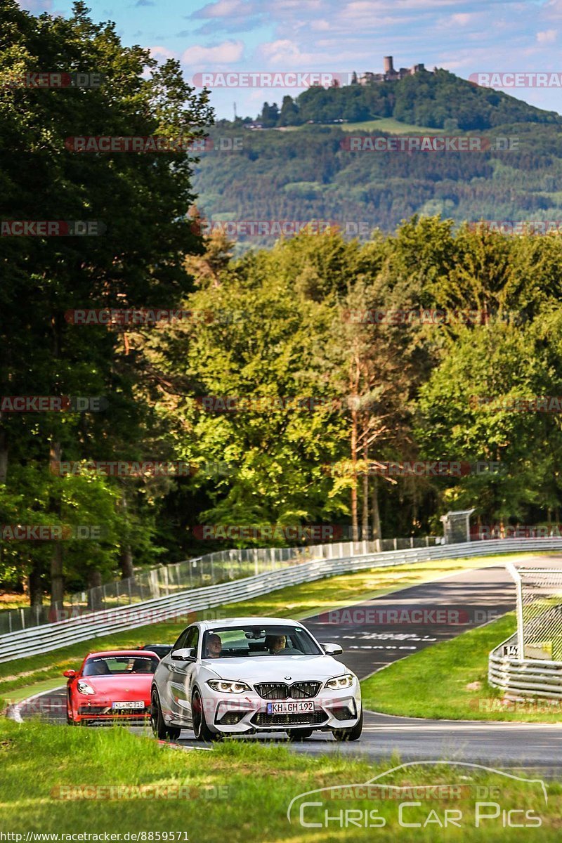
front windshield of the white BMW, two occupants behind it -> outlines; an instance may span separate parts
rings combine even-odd
[[[318,656],[322,650],[302,626],[228,626],[206,631],[203,658]]]

